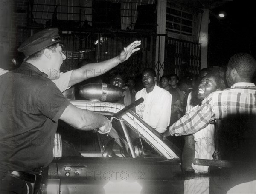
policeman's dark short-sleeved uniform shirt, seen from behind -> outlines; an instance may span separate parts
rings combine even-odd
[[[0,77],[0,168],[32,171],[53,159],[58,119],[70,102],[30,63]]]

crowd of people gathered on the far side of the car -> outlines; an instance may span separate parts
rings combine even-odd
[[[143,97],[136,113],[182,150],[184,194],[227,193],[255,175],[248,170],[255,171],[252,164],[256,162],[252,148],[256,143],[256,87],[251,82],[255,66],[250,54],[239,53],[230,58],[226,75],[223,69],[204,68],[198,75],[187,74],[182,79],[164,74],[157,84],[155,70],[145,68],[140,76],[143,87],[136,87],[140,83],[135,78],[125,79],[119,73],[109,83],[123,89],[117,103],[129,105]],[[195,165],[195,158],[251,163],[247,168],[236,165],[243,169],[244,178],[235,167]],[[213,174],[211,179],[209,174]],[[223,174],[228,180],[220,178]]]

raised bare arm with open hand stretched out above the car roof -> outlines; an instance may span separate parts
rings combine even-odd
[[[119,63],[128,60],[131,54],[140,50],[140,48],[136,48],[140,44],[141,41],[134,41],[133,43],[125,47],[124,50],[117,57],[99,63],[89,63],[79,69],[73,70],[70,81],[68,83],[68,87],[73,86],[74,84],[81,81],[87,80],[91,77],[102,75],[117,66]]]

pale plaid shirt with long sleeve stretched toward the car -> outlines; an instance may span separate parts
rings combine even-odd
[[[230,89],[209,94],[201,106],[173,123],[164,133],[169,135],[189,135],[205,128],[212,120],[221,120],[232,115],[248,114],[256,116],[256,86],[253,83],[235,83]]]

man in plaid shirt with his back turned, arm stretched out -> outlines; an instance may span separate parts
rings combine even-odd
[[[243,164],[239,166],[240,171],[218,168],[218,173],[213,174],[212,188],[210,182],[210,193],[227,193],[234,185],[256,178],[256,86],[250,82],[255,68],[256,61],[250,54],[233,55],[226,72],[230,89],[209,94],[201,106],[194,107],[163,135],[194,134],[214,120],[221,121],[218,135],[215,133],[215,147],[221,160],[251,162],[254,167],[252,170],[250,165]]]

